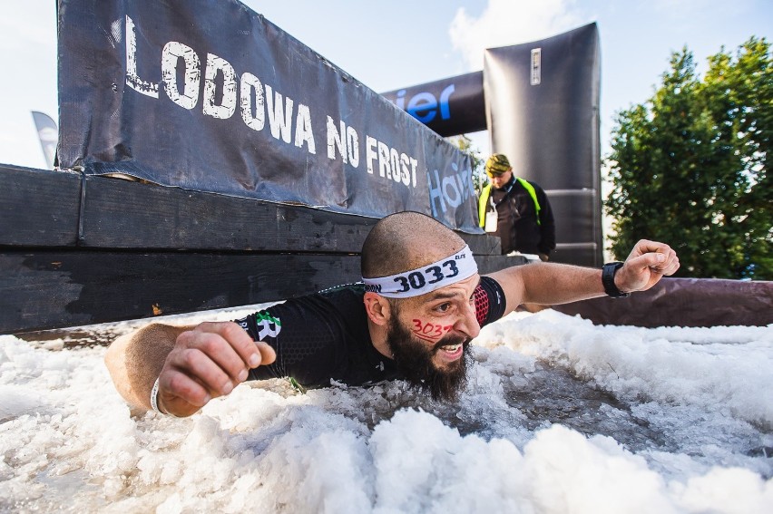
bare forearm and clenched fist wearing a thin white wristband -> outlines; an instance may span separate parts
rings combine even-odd
[[[249,369],[274,362],[265,343],[255,343],[235,323],[193,326],[152,324],[111,344],[105,364],[124,400],[190,416],[212,398],[230,393],[247,379]]]

